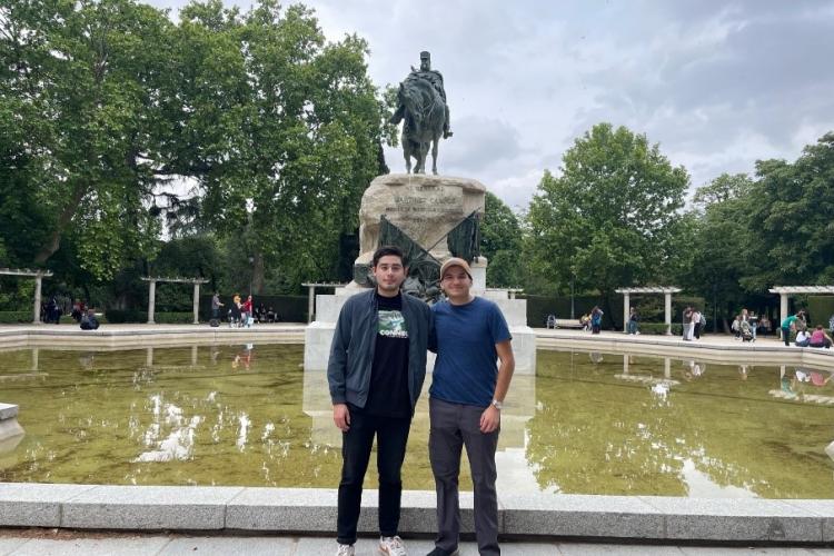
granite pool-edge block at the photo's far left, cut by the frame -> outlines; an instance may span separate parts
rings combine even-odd
[[[58,527],[61,504],[92,488],[91,485],[0,483],[0,526]]]

